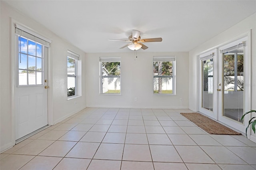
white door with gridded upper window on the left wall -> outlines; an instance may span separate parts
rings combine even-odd
[[[26,37],[15,36],[16,140],[48,125],[48,48]]]

